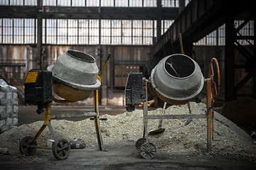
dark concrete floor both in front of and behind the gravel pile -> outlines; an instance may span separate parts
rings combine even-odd
[[[82,111],[90,111],[91,107],[86,106],[54,106],[52,107],[52,115],[65,115],[65,113],[81,113]],[[100,114],[118,114],[124,113],[124,106],[100,106]],[[57,116],[57,117],[58,117]],[[68,120],[79,120],[80,118],[65,118]],[[38,115],[36,107],[26,106],[19,107],[18,123],[32,123],[36,120],[44,120],[44,114]],[[101,151],[97,146],[85,147],[84,149],[71,149],[68,159],[57,160],[53,156],[51,150],[38,149],[36,155],[47,157],[46,163],[28,163],[22,161],[6,161],[0,160],[0,169],[256,169],[256,162],[250,162],[245,159],[233,159],[231,157],[213,157],[198,156],[187,154],[171,154],[156,152],[154,159],[144,159],[137,152],[134,145],[110,145],[105,146],[107,152]],[[33,157],[33,155],[31,156]]]

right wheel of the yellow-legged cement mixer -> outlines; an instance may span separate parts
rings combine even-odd
[[[68,140],[56,140],[53,142],[53,155],[56,159],[67,159],[70,154],[70,142]]]

